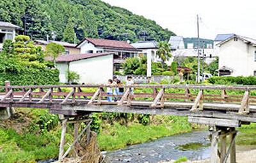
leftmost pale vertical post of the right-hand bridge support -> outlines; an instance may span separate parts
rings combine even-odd
[[[218,160],[218,131],[213,127],[211,133],[211,163],[217,163]]]

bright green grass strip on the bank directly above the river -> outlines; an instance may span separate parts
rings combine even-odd
[[[131,144],[145,143],[159,137],[172,136],[184,132],[191,132],[187,118],[169,116],[160,125],[132,124],[129,127],[115,123],[104,128],[97,137],[100,150],[116,150]]]

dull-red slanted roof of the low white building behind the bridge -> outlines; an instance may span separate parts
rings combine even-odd
[[[88,58],[95,58],[99,56],[106,56],[113,54],[111,52],[105,52],[105,53],[88,53],[88,54],[68,54],[68,55],[61,55],[56,58],[56,61],[58,62],[70,62],[70,61],[78,61],[81,59],[88,59]],[[45,58],[45,60],[52,60],[52,58]]]

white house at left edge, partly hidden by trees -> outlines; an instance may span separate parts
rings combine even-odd
[[[8,39],[14,42],[16,29],[20,29],[20,27],[10,22],[0,21],[0,51],[3,49],[4,40]]]

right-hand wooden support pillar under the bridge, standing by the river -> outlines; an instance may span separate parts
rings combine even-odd
[[[234,127],[209,127],[211,132],[211,163],[226,163],[228,157],[230,163],[236,163],[236,128]],[[227,148],[227,136],[229,136],[229,146]],[[220,146],[218,146],[220,143]],[[220,160],[220,161],[219,161]]]

